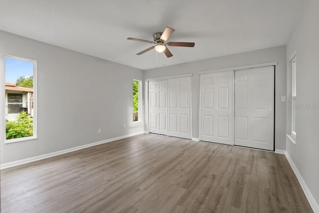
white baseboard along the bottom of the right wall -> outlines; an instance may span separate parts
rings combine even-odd
[[[313,211],[315,213],[319,213],[319,205],[316,202],[315,198],[313,197],[313,194],[310,192],[310,190],[309,190],[308,186],[306,185],[303,177],[299,173],[295,163],[293,162],[293,159],[291,159],[291,157],[289,156],[288,152],[285,153],[285,156],[286,156],[291,168],[293,169],[293,171],[294,171],[294,173],[295,173],[295,175],[296,175],[296,177],[297,177],[297,179],[298,179],[298,181],[299,181],[299,183],[300,183],[300,185],[301,185],[301,187],[302,187],[302,189],[303,189],[303,191],[304,191],[304,193],[305,193],[305,195],[306,195],[306,197],[308,199],[308,202],[309,202],[311,208],[313,209]]]

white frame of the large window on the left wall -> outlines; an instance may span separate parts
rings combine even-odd
[[[23,138],[15,138],[15,139],[5,139],[5,134],[4,134],[4,144],[11,144],[11,143],[16,143],[16,142],[22,142],[22,141],[29,141],[29,140],[34,140],[37,139],[37,113],[36,113],[36,107],[37,107],[37,92],[36,92],[36,60],[32,59],[27,59],[27,58],[21,58],[21,57],[16,57],[12,55],[4,55],[4,66],[5,66],[5,59],[6,58],[11,58],[11,59],[16,59],[16,60],[22,60],[22,61],[28,61],[33,63],[33,136],[29,137],[23,137]],[[5,69],[4,69],[4,75],[5,75]],[[23,106],[23,105],[22,105]],[[32,109],[31,109],[32,110]],[[4,127],[5,128],[5,127]],[[5,132],[5,129],[4,131]]]

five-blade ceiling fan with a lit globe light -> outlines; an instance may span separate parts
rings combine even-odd
[[[158,52],[164,52],[164,54],[169,58],[173,56],[171,52],[168,50],[167,46],[185,46],[185,47],[194,47],[195,43],[193,42],[167,42],[165,43],[168,38],[171,36],[171,34],[175,30],[166,27],[164,32],[157,32],[153,34],[154,41],[149,41],[149,40],[144,40],[144,39],[139,39],[139,38],[128,38],[129,40],[135,40],[135,41],[142,41],[142,42],[147,42],[147,43],[154,43],[154,46],[151,46],[139,53],[137,55],[142,55],[143,53],[146,53],[147,51],[150,51],[151,49],[156,49]]]

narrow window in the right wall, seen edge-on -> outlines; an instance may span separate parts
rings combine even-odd
[[[292,60],[292,114],[291,114],[291,136],[296,140],[296,62],[295,57]]]

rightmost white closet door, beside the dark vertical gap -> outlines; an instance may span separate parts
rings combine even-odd
[[[274,66],[235,71],[234,144],[274,150]]]

